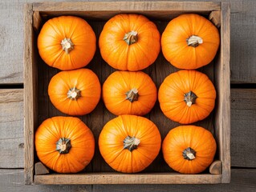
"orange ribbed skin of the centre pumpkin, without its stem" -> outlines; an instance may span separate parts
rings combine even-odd
[[[128,91],[138,91],[137,101],[127,99]],[[156,102],[156,86],[152,79],[141,71],[116,71],[104,82],[103,99],[112,114],[148,114]]]

